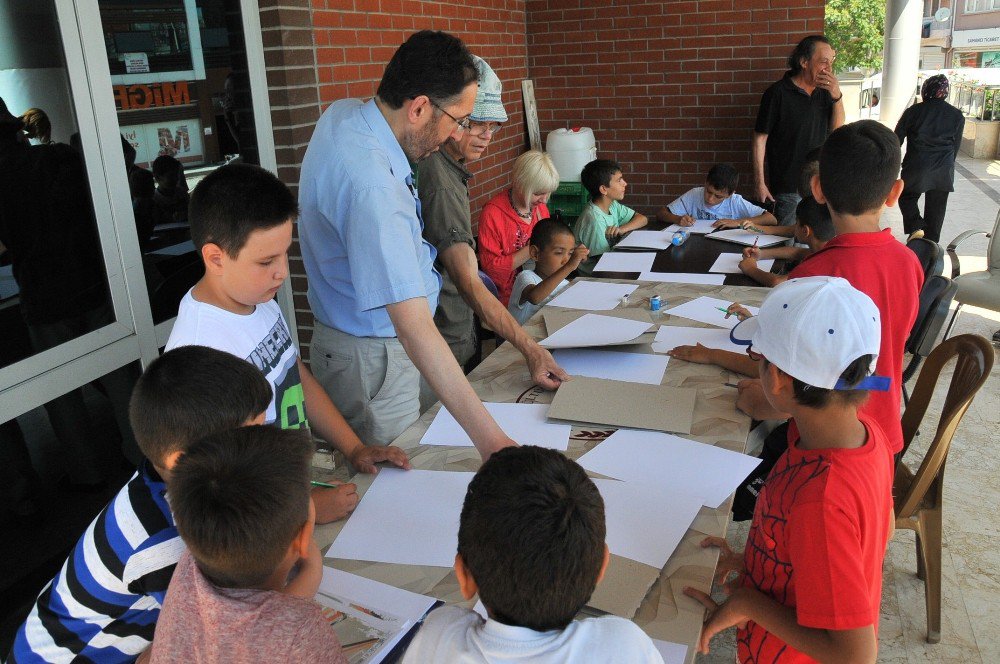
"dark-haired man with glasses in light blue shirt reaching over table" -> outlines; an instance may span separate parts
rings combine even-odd
[[[302,163],[299,238],[313,373],[355,432],[392,442],[419,415],[422,374],[485,459],[513,441],[434,326],[441,277],[410,169],[461,138],[476,80],[459,39],[425,30],[393,55],[375,99],[331,105]]]

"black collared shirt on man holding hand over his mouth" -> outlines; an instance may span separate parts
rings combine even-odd
[[[772,194],[798,191],[806,155],[830,133],[833,97],[816,88],[812,94],[795,85],[791,72],[764,91],[754,131],[767,134],[767,186]]]

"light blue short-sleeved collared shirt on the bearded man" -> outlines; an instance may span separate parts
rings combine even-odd
[[[374,100],[342,99],[323,113],[302,162],[299,207],[309,305],[319,322],[358,337],[394,337],[386,305],[425,297],[433,313],[436,252],[421,237],[406,154]]]

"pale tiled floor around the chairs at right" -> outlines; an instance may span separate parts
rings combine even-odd
[[[991,230],[1000,206],[1000,161],[959,157],[955,192],[948,201],[942,241],[947,244],[964,230]],[[902,236],[898,209],[888,209],[884,221]],[[959,248],[962,271],[985,269],[987,240],[979,237]],[[945,274],[950,274],[946,263]],[[955,334],[979,334],[989,339],[1000,329],[1000,313],[964,307]],[[914,379],[915,380],[915,379]],[[912,383],[911,383],[912,385]],[[939,382],[935,401],[943,398],[947,380]],[[931,406],[931,412],[934,406]],[[897,531],[889,544],[879,623],[879,662],[1000,662],[1000,362],[959,426],[945,473],[943,603],[941,642],[926,637],[923,583],[916,577],[913,533]],[[926,437],[918,437],[905,460],[919,465]],[[733,524],[729,540],[743,547],[746,524]],[[716,637],[712,652],[699,662],[733,661],[733,633]]]

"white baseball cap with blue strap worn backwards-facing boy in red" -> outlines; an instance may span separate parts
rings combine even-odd
[[[853,386],[840,380],[863,355],[872,356],[868,371],[874,372],[882,343],[878,307],[840,277],[789,279],[768,294],[757,316],[736,325],[730,338],[813,387],[889,389],[889,379],[882,376]]]

